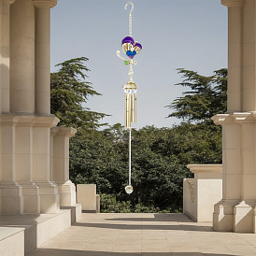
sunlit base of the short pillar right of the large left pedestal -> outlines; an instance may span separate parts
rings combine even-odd
[[[57,181],[57,184],[60,193],[60,206],[75,206],[77,204],[75,184],[70,180]]]

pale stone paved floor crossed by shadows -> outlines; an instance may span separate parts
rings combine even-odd
[[[182,214],[93,214],[28,256],[256,255],[256,235],[213,232]]]

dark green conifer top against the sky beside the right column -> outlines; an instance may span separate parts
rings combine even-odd
[[[184,80],[177,85],[189,87],[182,97],[166,107],[174,109],[168,115],[183,121],[209,122],[216,114],[225,113],[227,108],[227,69],[214,71],[211,77],[199,75],[192,70],[178,69]]]

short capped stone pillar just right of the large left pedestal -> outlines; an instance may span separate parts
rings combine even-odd
[[[74,136],[76,129],[71,127],[51,128],[52,178],[59,186],[60,205],[76,205],[76,186],[69,180],[69,137]]]

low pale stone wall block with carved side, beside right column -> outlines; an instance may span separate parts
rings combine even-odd
[[[189,164],[194,178],[183,180],[183,213],[198,222],[212,221],[222,196],[222,164]]]

